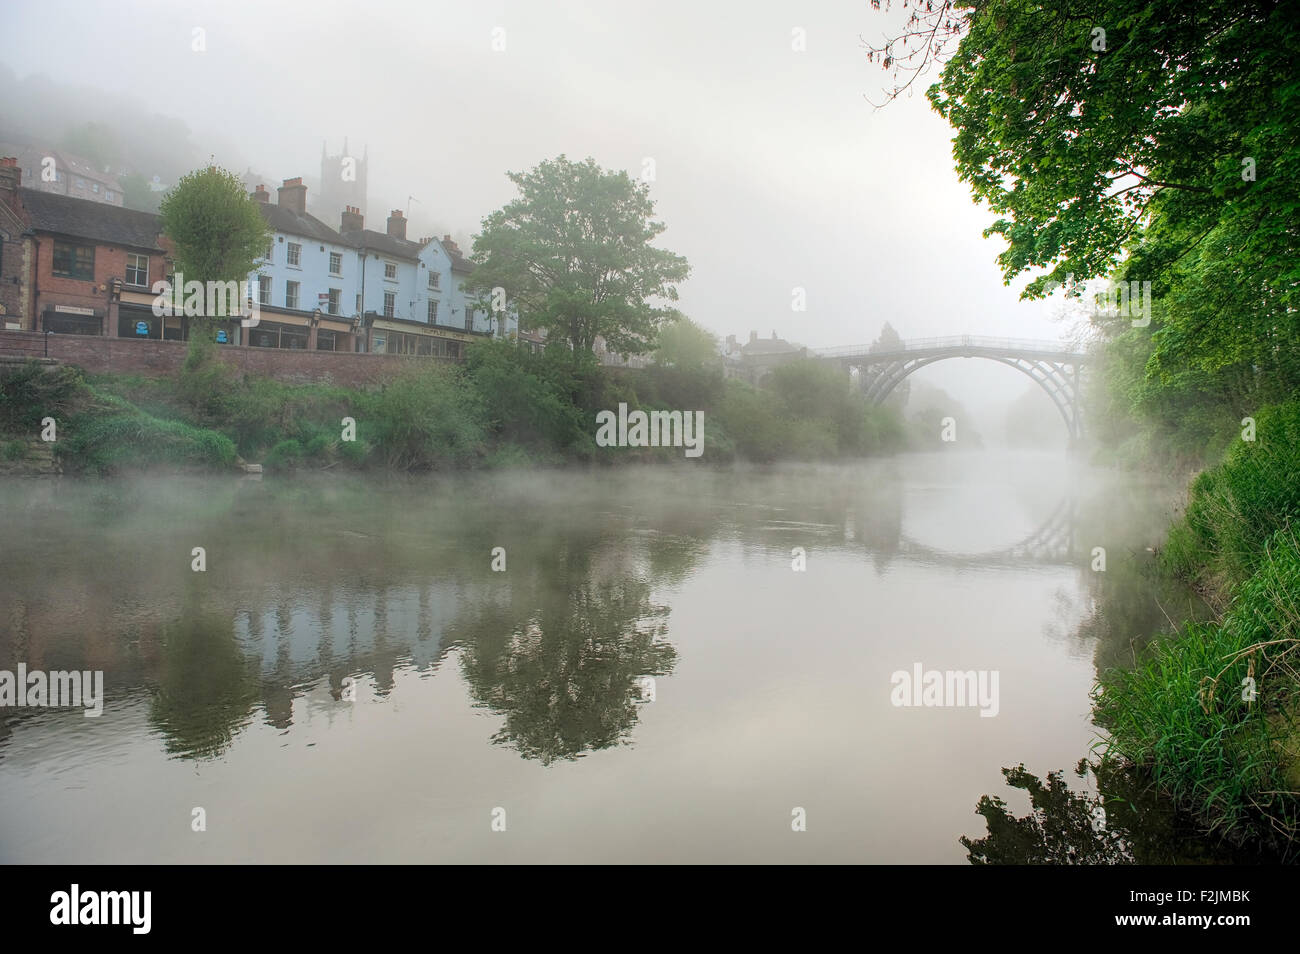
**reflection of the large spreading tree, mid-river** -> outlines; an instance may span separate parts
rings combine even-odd
[[[638,676],[664,676],[676,650],[650,584],[606,574],[569,547],[464,629],[462,669],[477,704],[504,716],[493,737],[550,764],[625,743],[637,721]]]

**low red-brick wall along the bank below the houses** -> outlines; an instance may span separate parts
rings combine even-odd
[[[32,331],[0,331],[0,356],[42,357],[46,335]],[[49,335],[49,356],[65,364],[103,374],[148,374],[165,377],[181,369],[185,342],[96,338],[79,334]],[[330,383],[365,387],[412,364],[439,361],[404,355],[355,355],[338,351],[289,351],[217,346],[221,360],[243,374],[289,383]],[[442,359],[445,361],[445,359]]]

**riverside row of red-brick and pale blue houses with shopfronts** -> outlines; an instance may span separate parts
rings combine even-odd
[[[274,201],[261,185],[251,198],[270,231],[250,276],[260,321],[221,322],[218,342],[452,360],[494,335],[541,347],[512,316],[478,308],[465,289],[473,264],[450,237],[408,239],[400,209],[377,231],[355,207],[337,227],[309,214],[302,178],[285,179]],[[4,329],[179,341],[187,321],[153,308],[155,283],[173,278],[157,216],[26,188],[17,160],[0,159]]]

